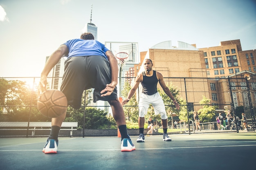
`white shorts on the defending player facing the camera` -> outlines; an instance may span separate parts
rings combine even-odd
[[[143,111],[143,114],[146,115],[150,104],[153,106],[156,115],[159,113],[166,114],[164,101],[158,92],[153,95],[141,94],[139,98],[139,113]]]

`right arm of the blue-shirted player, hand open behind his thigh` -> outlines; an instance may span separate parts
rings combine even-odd
[[[117,80],[118,80],[118,64],[117,59],[115,55],[111,51],[107,51],[106,55],[108,57],[108,61],[110,63],[110,69],[111,69],[111,83],[107,84],[106,87],[101,91],[101,96],[109,96],[114,91],[115,87],[117,86]]]

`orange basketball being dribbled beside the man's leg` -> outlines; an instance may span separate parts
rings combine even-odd
[[[43,116],[56,118],[65,113],[67,109],[67,98],[59,90],[50,89],[43,92],[37,101],[37,107]]]

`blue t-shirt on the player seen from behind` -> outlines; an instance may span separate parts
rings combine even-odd
[[[85,40],[85,39],[71,39],[64,43],[69,49],[69,53],[66,56],[77,57],[77,56],[90,56],[90,55],[99,55],[104,56],[106,59],[106,53],[108,48],[104,44],[96,40]]]

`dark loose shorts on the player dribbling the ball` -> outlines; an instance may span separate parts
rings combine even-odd
[[[103,56],[71,57],[65,61],[61,92],[74,109],[81,107],[83,91],[94,88],[93,102],[117,99],[117,87],[110,96],[101,97],[101,90],[111,83],[109,61]]]

